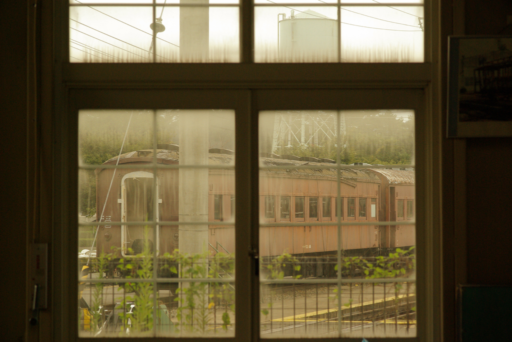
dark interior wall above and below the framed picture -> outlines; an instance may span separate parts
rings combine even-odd
[[[512,35],[507,15],[510,0],[465,0],[465,33]],[[511,284],[512,139],[467,139],[465,159],[467,282]]]

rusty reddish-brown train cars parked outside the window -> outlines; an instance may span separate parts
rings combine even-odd
[[[209,150],[208,227],[210,253],[234,252],[234,170],[232,151]],[[158,169],[154,178],[153,150],[122,154],[119,165],[140,165],[140,169],[116,169],[117,157],[96,169],[97,212],[102,221],[140,222],[139,225],[104,225],[100,227],[97,250],[119,249],[119,257],[141,252],[142,242],[150,240],[151,248],[160,255],[172,253],[179,244],[178,174],[176,168]],[[158,149],[157,163],[179,164],[179,147],[166,145]],[[266,166],[285,167],[260,172],[260,256],[269,258],[290,253],[315,260],[309,267],[313,276],[329,273],[326,260],[337,253],[337,225],[342,226],[344,255],[375,256],[396,247],[415,245],[413,224],[378,225],[379,221],[414,220],[415,191],[413,170],[346,168],[338,170],[330,159],[300,158],[262,153]],[[297,169],[295,166],[310,168]],[[287,169],[286,166],[291,168]],[[314,168],[318,166],[319,168]],[[333,168],[326,168],[332,166]],[[156,187],[153,185],[156,183]],[[338,187],[339,197],[338,197]],[[109,192],[110,188],[110,192]],[[155,190],[153,190],[155,189]],[[156,191],[156,193],[154,193]],[[154,198],[158,210],[154,210]],[[176,222],[160,225],[157,236],[143,222],[156,220]],[[325,222],[326,225],[322,225]],[[274,224],[275,223],[275,224]],[[283,224],[285,223],[285,224]],[[306,270],[305,270],[306,271]],[[331,270],[332,272],[332,270]]]

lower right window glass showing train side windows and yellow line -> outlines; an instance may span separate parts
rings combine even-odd
[[[263,111],[259,124],[261,336],[416,336],[415,225],[389,224],[396,197],[415,196],[414,112]],[[290,220],[265,219],[267,194],[291,198]]]

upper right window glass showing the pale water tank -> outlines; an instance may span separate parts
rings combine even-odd
[[[342,6],[338,18],[335,2],[314,7],[256,5],[254,60],[423,62],[423,22],[422,6]]]

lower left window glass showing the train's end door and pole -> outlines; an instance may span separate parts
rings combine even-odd
[[[234,112],[80,110],[79,334],[234,335]]]

